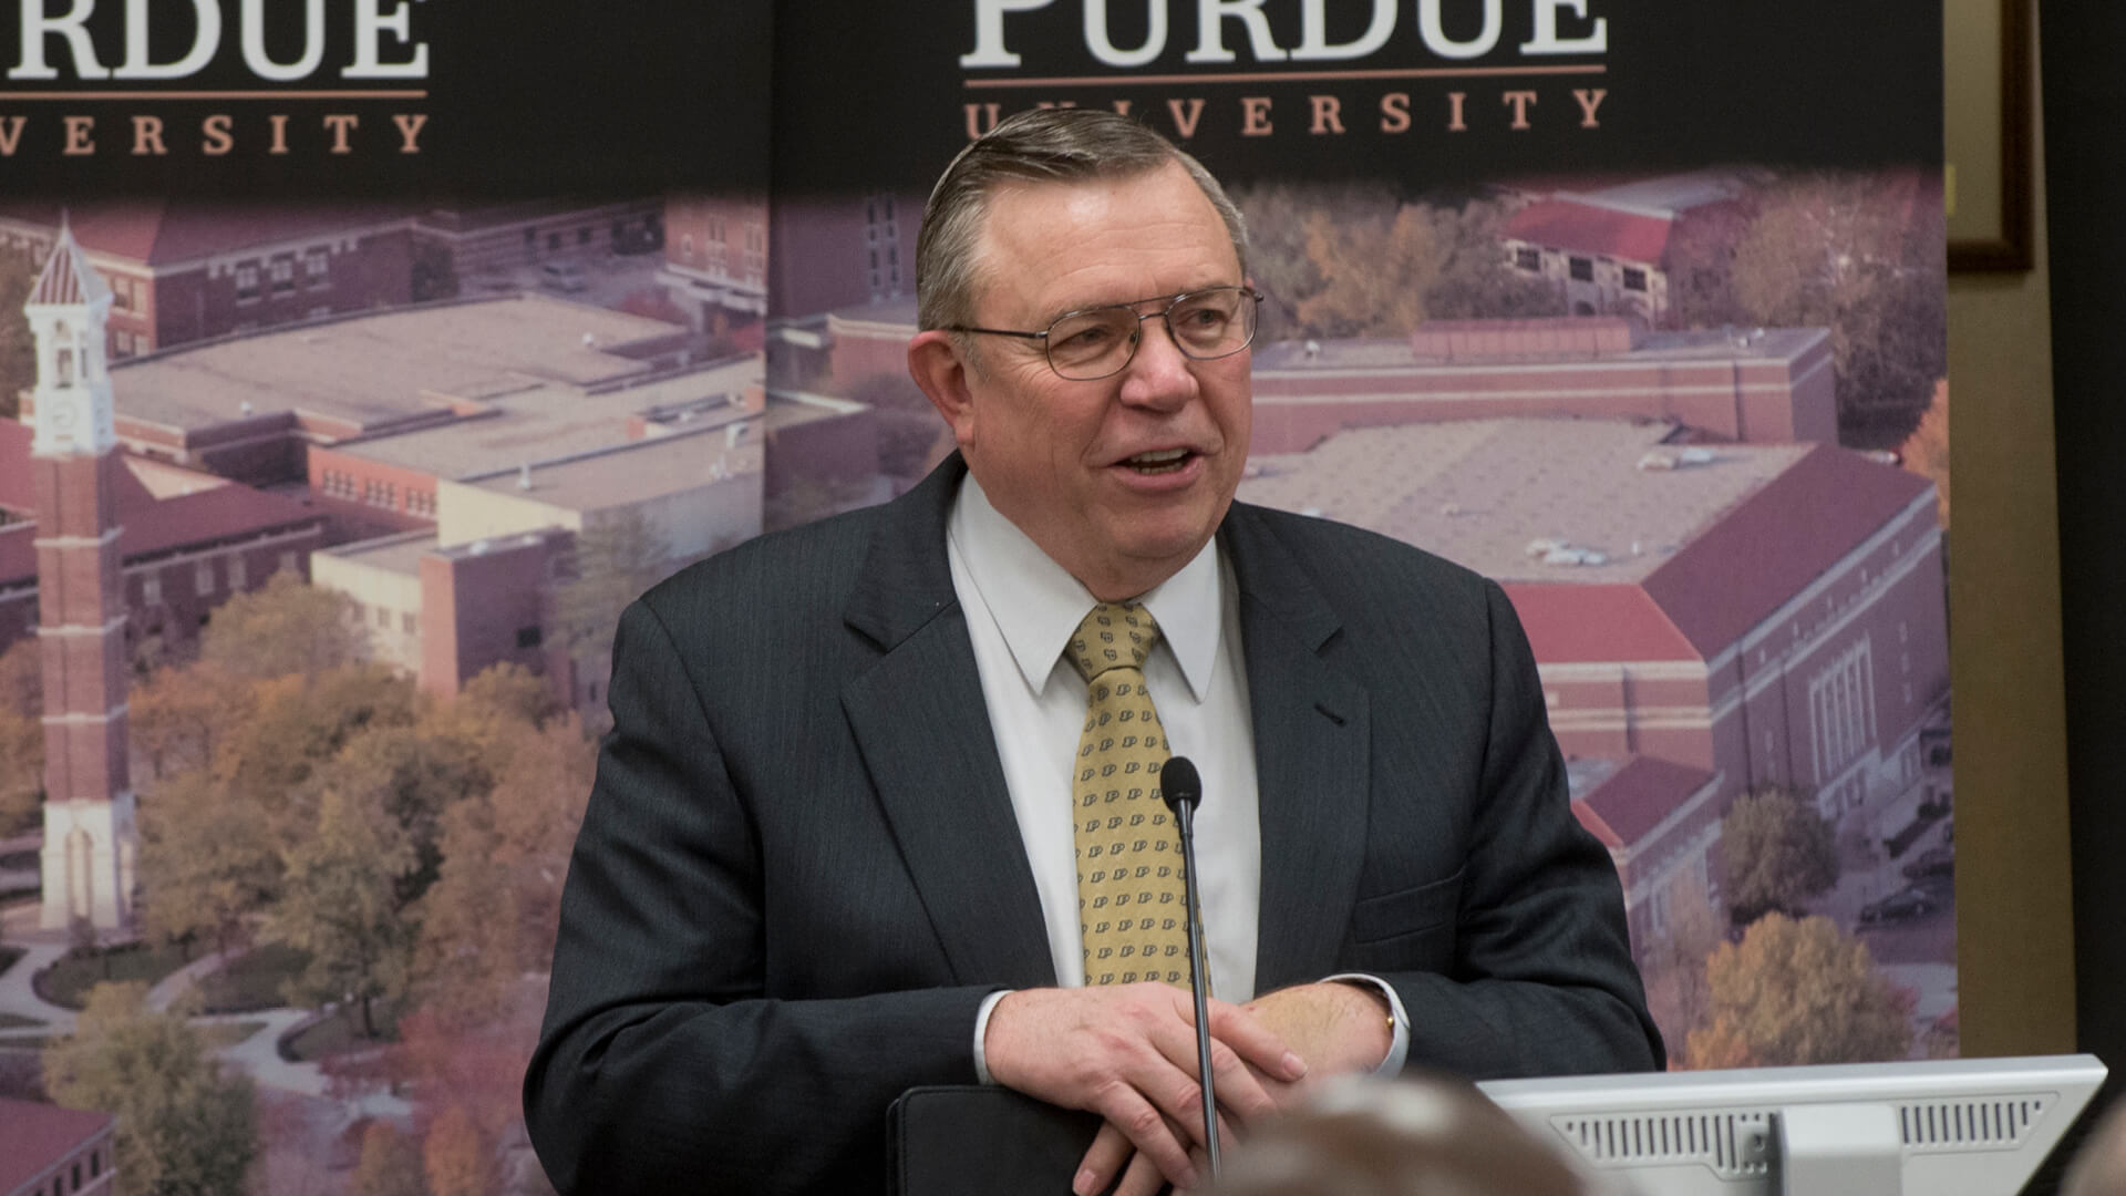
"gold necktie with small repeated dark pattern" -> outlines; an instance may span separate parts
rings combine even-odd
[[[1144,690],[1159,624],[1131,602],[1101,602],[1078,624],[1069,660],[1086,679],[1072,781],[1084,983],[1188,985],[1182,849],[1159,798],[1167,732]]]

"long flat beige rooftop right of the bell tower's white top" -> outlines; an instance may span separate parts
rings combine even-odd
[[[544,294],[423,304],[253,332],[111,368],[119,415],[176,430],[302,413],[359,430],[540,385],[653,372],[629,345],[685,330]],[[244,406],[249,404],[249,409]]]

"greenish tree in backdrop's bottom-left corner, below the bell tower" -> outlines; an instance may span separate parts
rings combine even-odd
[[[147,985],[89,990],[74,1034],[43,1062],[55,1102],[117,1115],[128,1192],[242,1192],[257,1153],[251,1079],[223,1075],[183,1013],[149,1011]]]

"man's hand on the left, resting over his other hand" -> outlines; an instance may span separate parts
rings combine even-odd
[[[1307,1064],[1246,1009],[1210,1002],[1210,1060],[1218,1107],[1254,1122],[1278,1111],[1271,1085],[1297,1081]],[[982,1036],[997,1083],[1065,1109],[1091,1109],[1178,1187],[1197,1181],[1188,1160],[1203,1139],[1197,1085],[1195,1002],[1165,983],[1033,987],[997,1002]],[[1256,1075],[1256,1068],[1261,1075]],[[1116,1143],[1120,1145],[1120,1143]],[[1127,1151],[1091,1151],[1078,1192],[1103,1192]]]

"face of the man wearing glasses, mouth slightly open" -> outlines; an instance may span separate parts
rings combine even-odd
[[[1078,309],[1246,281],[1180,164],[999,189],[978,262],[974,323],[1029,332]],[[965,400],[946,411],[997,511],[1103,600],[1188,564],[1248,455],[1250,353],[1197,362],[1157,315],[1142,328],[1129,366],[1097,381],[1059,377],[1042,340],[976,336]]]

